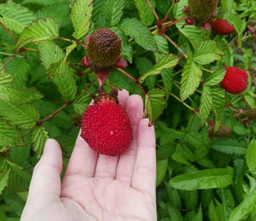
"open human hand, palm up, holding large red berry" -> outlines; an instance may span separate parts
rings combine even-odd
[[[78,135],[61,183],[62,151],[48,139],[33,171],[21,221],[156,220],[154,127],[142,119],[143,101],[118,93],[126,109],[133,140],[117,157],[92,150]]]

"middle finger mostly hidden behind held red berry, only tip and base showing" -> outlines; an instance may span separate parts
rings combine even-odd
[[[124,108],[126,108],[126,99],[129,97],[129,92],[127,90],[119,91],[117,97],[119,103],[122,104]],[[94,177],[115,178],[118,160],[119,156],[112,157],[99,154]]]

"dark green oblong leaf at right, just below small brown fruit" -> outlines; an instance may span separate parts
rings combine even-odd
[[[222,153],[244,155],[246,153],[246,142],[236,139],[217,139],[212,144],[212,149]]]

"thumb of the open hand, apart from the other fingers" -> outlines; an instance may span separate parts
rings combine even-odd
[[[59,143],[48,139],[41,159],[34,167],[23,214],[34,213],[42,207],[55,203],[60,197],[60,173],[62,172],[62,151]],[[30,209],[33,207],[33,210]]]

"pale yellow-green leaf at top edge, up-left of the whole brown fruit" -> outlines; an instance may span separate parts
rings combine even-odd
[[[75,32],[72,34],[75,39],[80,39],[89,31],[92,15],[92,0],[74,1],[70,19],[74,26]]]

